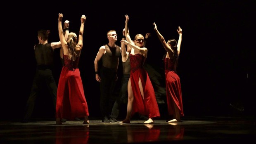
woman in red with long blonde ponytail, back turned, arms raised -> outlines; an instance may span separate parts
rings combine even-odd
[[[59,77],[56,105],[56,124],[62,124],[60,119],[73,120],[84,117],[83,124],[89,124],[88,105],[85,99],[83,83],[78,68],[79,57],[83,47],[83,28],[85,15],[81,16],[81,27],[77,43],[76,33],[69,33],[67,41],[62,30],[63,15],[59,14],[59,39],[63,47],[64,66]]]

